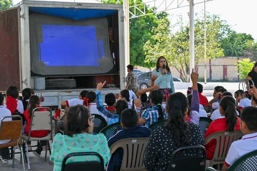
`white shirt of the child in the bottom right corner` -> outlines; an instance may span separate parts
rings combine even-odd
[[[246,134],[240,140],[232,142],[228,150],[225,162],[233,164],[240,156],[257,149],[257,132]]]

